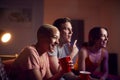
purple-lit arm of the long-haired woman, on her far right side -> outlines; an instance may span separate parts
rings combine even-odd
[[[104,50],[104,59],[103,59],[103,76],[100,80],[105,80],[108,76],[108,51]]]

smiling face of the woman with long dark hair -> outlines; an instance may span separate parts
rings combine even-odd
[[[108,42],[108,33],[104,28],[101,28],[100,39],[96,41],[97,46],[106,47]]]

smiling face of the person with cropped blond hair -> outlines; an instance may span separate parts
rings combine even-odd
[[[53,52],[55,46],[59,44],[60,32],[58,30],[53,30],[53,35],[50,37],[49,52]]]

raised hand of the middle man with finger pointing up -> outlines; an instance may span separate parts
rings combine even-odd
[[[77,40],[75,40],[73,45],[69,47],[71,51],[69,56],[71,57],[71,59],[73,59],[78,53],[78,47],[76,46],[76,43],[77,43]]]

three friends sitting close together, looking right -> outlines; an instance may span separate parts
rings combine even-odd
[[[52,25],[41,25],[37,31],[37,43],[23,48],[13,62],[8,75],[10,80],[80,80],[79,71],[89,71],[90,79],[96,80],[92,74],[100,66],[102,75],[99,80],[106,80],[108,30],[93,27],[88,42],[81,46],[77,46],[77,40],[71,44],[72,34],[70,18],[58,18]],[[72,69],[70,72],[59,64],[59,59],[66,56],[71,58],[67,63]]]

